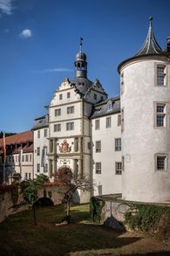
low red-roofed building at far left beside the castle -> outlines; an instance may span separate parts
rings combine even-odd
[[[33,135],[26,131],[5,138],[6,161],[3,176],[3,139],[0,139],[0,182],[10,183],[14,173],[20,173],[22,179],[33,178]]]

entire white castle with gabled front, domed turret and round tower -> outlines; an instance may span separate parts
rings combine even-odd
[[[118,67],[120,99],[107,99],[99,80],[88,80],[81,45],[75,79],[58,86],[48,114],[32,128],[34,176],[51,177],[62,166],[87,176],[92,194],[80,193],[80,203],[113,193],[170,200],[170,38],[162,51],[150,20],[144,45]]]

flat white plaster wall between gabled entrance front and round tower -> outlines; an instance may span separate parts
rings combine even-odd
[[[111,128],[105,128],[106,117],[112,118]],[[118,114],[98,118],[100,129],[95,130],[95,120],[92,119],[92,169],[94,195],[98,196],[98,185],[102,185],[102,194],[121,193],[121,175],[115,174],[115,162],[121,162],[121,151],[115,151],[115,138],[121,137],[118,126]],[[95,142],[101,141],[101,153],[96,153]],[[101,162],[101,174],[96,174],[95,163]]]

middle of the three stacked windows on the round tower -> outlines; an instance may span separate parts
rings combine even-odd
[[[167,104],[155,103],[155,126],[165,128],[167,126]]]

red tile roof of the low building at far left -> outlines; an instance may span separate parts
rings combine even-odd
[[[17,135],[11,135],[5,138],[6,145],[16,144],[21,142],[33,142],[32,131],[26,131]],[[0,139],[0,147],[3,147],[3,139]]]

